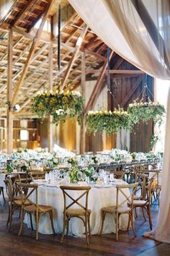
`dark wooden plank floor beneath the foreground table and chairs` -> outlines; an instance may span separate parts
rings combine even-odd
[[[14,216],[12,231],[6,229],[6,217],[8,204],[0,197],[0,255],[32,256],[32,255],[170,255],[170,244],[163,244],[152,239],[143,238],[144,231],[149,230],[148,221],[144,222],[140,212],[135,221],[137,237],[133,237],[132,231],[120,231],[120,241],[115,241],[115,234],[104,236],[92,236],[90,245],[87,246],[84,238],[65,236],[63,244],[60,244],[59,235],[42,235],[39,241],[35,240],[35,231],[24,226],[24,233],[18,236],[18,213]],[[152,207],[153,228],[156,226],[158,206]]]

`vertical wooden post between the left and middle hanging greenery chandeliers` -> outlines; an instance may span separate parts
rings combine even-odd
[[[86,97],[86,54],[82,53],[81,59],[81,95]],[[82,122],[81,122],[81,131],[80,131],[80,153],[84,154],[86,151],[86,119],[83,114]]]

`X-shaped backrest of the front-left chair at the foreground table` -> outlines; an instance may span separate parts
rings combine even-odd
[[[28,200],[30,202],[30,204],[35,205],[36,210],[38,210],[38,185],[17,182],[17,187],[19,189],[19,194],[22,197],[22,206]],[[25,194],[25,190],[27,190],[27,194]],[[30,195],[32,195],[33,192],[36,192],[35,202],[32,202],[32,200],[30,200]]]

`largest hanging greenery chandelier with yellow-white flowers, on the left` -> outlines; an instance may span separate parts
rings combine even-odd
[[[46,115],[53,116],[53,123],[58,125],[66,117],[78,116],[81,122],[81,112],[84,107],[84,98],[77,91],[45,92],[37,94],[33,99],[33,111],[44,119]]]

